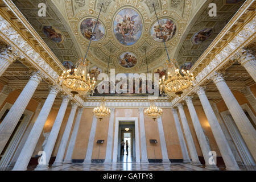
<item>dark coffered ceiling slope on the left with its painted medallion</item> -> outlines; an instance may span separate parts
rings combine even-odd
[[[81,57],[78,44],[69,30],[67,22],[51,1],[13,0],[13,2],[61,63],[63,61],[76,63],[77,59]],[[38,4],[41,2],[46,3],[46,17],[38,16]]]

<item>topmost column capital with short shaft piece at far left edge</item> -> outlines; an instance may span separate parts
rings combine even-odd
[[[11,47],[6,48],[5,51],[0,54],[0,77],[5,73],[6,69],[13,64],[16,58],[16,53],[12,51]]]

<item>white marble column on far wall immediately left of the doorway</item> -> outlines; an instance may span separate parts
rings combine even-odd
[[[112,163],[114,113],[115,113],[115,108],[110,108],[109,131],[108,131],[108,140],[107,140],[106,156],[105,156],[104,163]]]

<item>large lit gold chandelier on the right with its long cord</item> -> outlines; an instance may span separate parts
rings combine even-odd
[[[152,5],[155,11],[154,3]],[[155,11],[155,15],[156,15],[156,19],[158,20],[159,27],[161,27],[156,11]],[[161,28],[160,28],[160,33],[162,34],[162,37],[163,37],[163,32]],[[163,76],[163,78],[159,80],[160,94],[162,94],[162,96],[167,96],[170,99],[172,99],[175,96],[181,97],[181,94],[183,94],[184,90],[189,88],[189,86],[193,85],[193,81],[195,81],[195,77],[193,76],[192,73],[189,73],[189,71],[185,72],[183,69],[180,71],[178,66],[177,67],[175,66],[175,63],[174,63],[175,61],[170,60],[167,47],[166,47],[166,42],[164,39],[163,39],[163,43],[164,43],[164,47],[166,49],[166,53],[168,57],[168,61],[166,63],[168,68],[168,78],[166,78],[166,76]]]

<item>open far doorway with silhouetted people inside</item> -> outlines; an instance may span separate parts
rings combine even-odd
[[[119,122],[118,162],[135,162],[134,122]]]

